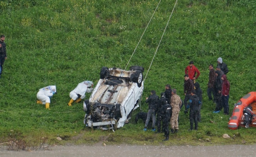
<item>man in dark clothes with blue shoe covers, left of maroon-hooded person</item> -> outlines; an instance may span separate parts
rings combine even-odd
[[[221,71],[218,71],[218,70],[215,71],[216,79],[214,82],[214,91],[215,91],[216,108],[213,113],[219,113],[222,109],[222,101],[221,101],[222,80],[221,80],[220,73]]]

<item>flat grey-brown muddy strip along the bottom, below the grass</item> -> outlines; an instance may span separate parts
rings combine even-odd
[[[51,150],[14,152],[0,148],[0,157],[255,157],[256,145],[228,146],[54,146]]]

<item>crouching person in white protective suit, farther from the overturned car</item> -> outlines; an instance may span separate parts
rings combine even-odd
[[[55,93],[57,94],[56,86],[47,86],[39,89],[39,92],[37,93],[37,104],[45,104],[46,109],[50,108],[50,98]]]

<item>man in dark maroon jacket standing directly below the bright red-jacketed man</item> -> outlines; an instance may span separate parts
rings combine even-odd
[[[190,97],[191,91],[194,89],[193,81],[188,77],[188,74],[184,75],[184,105],[185,107],[188,105],[188,99]]]

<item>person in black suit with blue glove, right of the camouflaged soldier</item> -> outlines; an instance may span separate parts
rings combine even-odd
[[[199,97],[196,95],[195,90],[193,89],[191,92],[191,97],[189,100],[190,112],[189,112],[189,120],[190,120],[190,129],[189,131],[193,130],[193,124],[195,122],[195,130],[198,129],[198,122],[197,122],[197,114],[199,112]],[[188,110],[186,106],[186,110]]]

